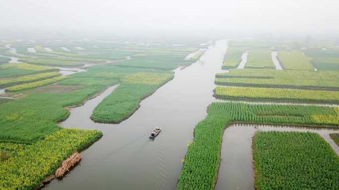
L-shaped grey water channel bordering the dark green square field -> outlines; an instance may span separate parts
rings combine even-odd
[[[216,190],[254,190],[252,166],[252,137],[256,131],[296,131],[317,133],[339,154],[339,146],[329,134],[339,129],[272,126],[259,124],[232,124],[223,136],[221,163]]]

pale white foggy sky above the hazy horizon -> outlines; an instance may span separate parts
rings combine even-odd
[[[323,35],[339,0],[3,0],[0,37]]]

